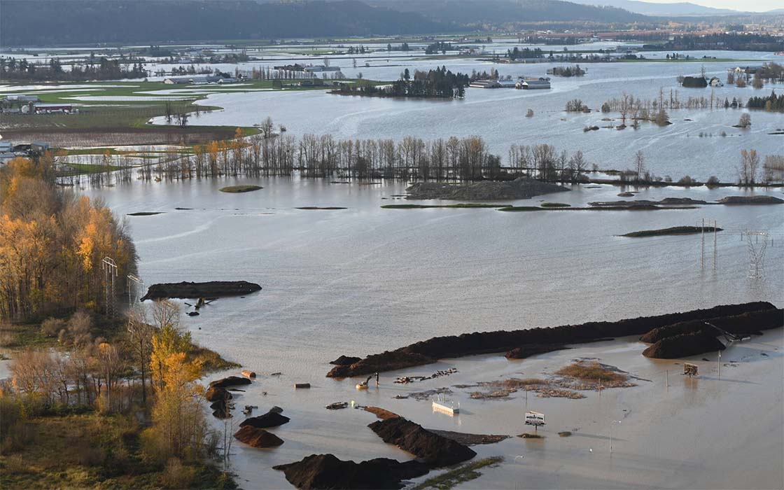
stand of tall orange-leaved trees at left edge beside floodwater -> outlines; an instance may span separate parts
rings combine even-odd
[[[52,164],[47,153],[0,169],[0,320],[102,310],[103,258],[118,264],[118,295],[136,271],[125,223],[102,202],[57,187]]]

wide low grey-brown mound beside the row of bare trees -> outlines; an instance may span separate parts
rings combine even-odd
[[[450,199],[459,201],[496,201],[528,199],[542,194],[569,191],[554,183],[520,177],[510,181],[482,180],[464,184],[418,182],[406,189],[408,199]]]

